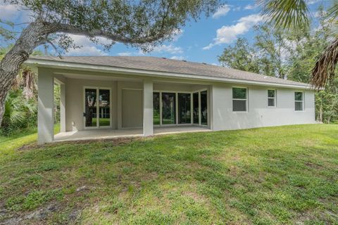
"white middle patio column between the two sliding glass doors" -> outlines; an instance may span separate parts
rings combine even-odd
[[[153,81],[144,79],[143,83],[143,136],[154,135],[153,124]]]

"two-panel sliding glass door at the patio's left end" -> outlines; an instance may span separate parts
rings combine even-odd
[[[84,89],[84,127],[111,126],[111,90]]]

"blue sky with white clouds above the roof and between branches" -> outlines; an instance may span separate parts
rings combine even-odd
[[[315,11],[320,4],[329,3],[330,1],[324,0],[308,0],[313,18],[315,19]],[[25,23],[30,21],[25,13],[0,0],[1,20]],[[226,1],[213,15],[208,18],[202,16],[197,22],[187,23],[180,31],[175,32],[172,41],[156,46],[150,53],[143,53],[139,49],[119,43],[109,51],[104,51],[101,45],[93,44],[87,37],[72,35],[75,44],[82,48],[70,49],[65,56],[156,56],[219,65],[218,56],[225,47],[233,45],[239,37],[251,41],[254,37],[253,26],[259,23],[263,23],[263,18],[255,1]],[[103,44],[109,43],[103,38],[100,41]]]

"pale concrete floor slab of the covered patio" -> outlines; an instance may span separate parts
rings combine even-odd
[[[207,127],[198,127],[198,126],[154,127],[154,135],[180,134],[180,133],[202,132],[202,131],[211,131],[211,130],[208,129]],[[82,131],[68,131],[58,133],[54,136],[54,142],[118,139],[137,136],[144,136],[143,129],[87,129]]]

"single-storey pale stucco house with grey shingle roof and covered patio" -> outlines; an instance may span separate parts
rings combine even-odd
[[[34,56],[26,64],[39,77],[39,143],[315,122],[311,86],[286,79],[146,56]]]

